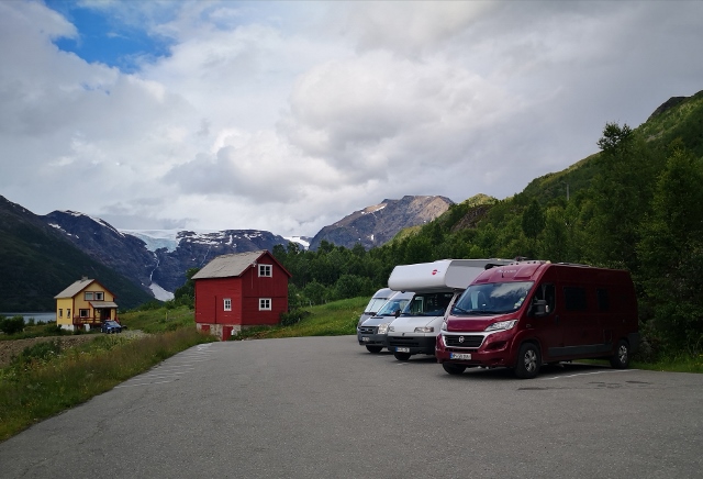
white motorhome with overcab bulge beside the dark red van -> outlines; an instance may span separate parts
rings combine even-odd
[[[393,268],[388,287],[415,291],[401,315],[388,328],[388,350],[395,359],[435,354],[439,327],[456,299],[483,270],[511,259],[440,259]]]

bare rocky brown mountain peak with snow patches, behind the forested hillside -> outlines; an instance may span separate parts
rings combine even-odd
[[[405,196],[400,200],[383,200],[323,227],[310,242],[310,249],[317,249],[323,241],[347,248],[357,243],[366,249],[380,246],[403,229],[431,222],[453,204],[445,197]]]

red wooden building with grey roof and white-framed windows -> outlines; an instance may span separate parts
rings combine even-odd
[[[267,250],[217,256],[193,277],[196,325],[223,341],[288,311],[291,274]]]

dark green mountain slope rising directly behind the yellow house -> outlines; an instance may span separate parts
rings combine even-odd
[[[121,308],[150,296],[91,258],[42,216],[0,197],[0,311],[52,311],[54,297],[83,276],[99,279]]]

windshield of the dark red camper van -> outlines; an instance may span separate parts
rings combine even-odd
[[[453,315],[504,314],[523,305],[533,281],[472,285],[451,309]]]

